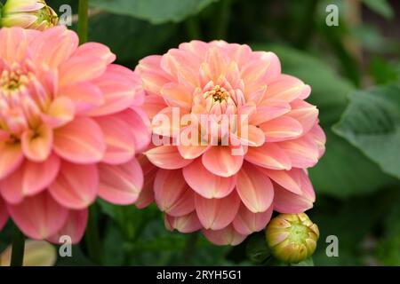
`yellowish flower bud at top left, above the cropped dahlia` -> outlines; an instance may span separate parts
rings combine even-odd
[[[1,27],[44,30],[57,25],[59,17],[44,0],[7,0],[2,9]]]

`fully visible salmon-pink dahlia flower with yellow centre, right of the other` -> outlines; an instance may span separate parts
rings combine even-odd
[[[142,59],[136,72],[153,127],[138,206],[154,198],[167,228],[236,245],[273,210],[313,206],[306,169],[324,154],[324,131],[305,101],[310,87],[282,74],[274,53],[193,41]]]

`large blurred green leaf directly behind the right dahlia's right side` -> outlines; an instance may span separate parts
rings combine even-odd
[[[324,157],[309,170],[316,193],[343,198],[371,193],[394,182],[355,146],[332,133],[332,124],[340,120],[346,109],[348,94],[355,90],[347,80],[323,60],[305,52],[282,45],[255,47],[276,52],[284,73],[298,76],[311,86],[308,101],[318,107],[320,122],[327,135]]]

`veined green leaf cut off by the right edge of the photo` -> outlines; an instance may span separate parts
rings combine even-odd
[[[356,91],[334,131],[400,178],[400,88],[389,85]]]

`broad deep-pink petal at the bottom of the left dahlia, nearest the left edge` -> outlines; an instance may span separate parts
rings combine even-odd
[[[44,240],[57,233],[65,224],[68,209],[47,193],[27,197],[19,204],[7,204],[12,220],[31,239]]]

